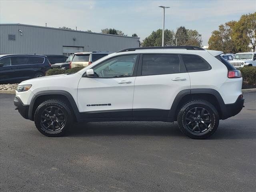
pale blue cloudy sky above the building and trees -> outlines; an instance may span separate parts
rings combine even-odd
[[[49,27],[67,26],[100,32],[116,28],[128,36],[138,34],[143,40],[153,30],[162,28],[162,8],[166,9],[165,28],[179,26],[196,29],[207,45],[211,32],[222,23],[239,20],[242,14],[256,11],[255,0],[190,1],[0,1],[0,23],[22,23]]]

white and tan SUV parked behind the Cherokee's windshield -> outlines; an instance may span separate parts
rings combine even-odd
[[[79,52],[75,53],[74,57],[71,62],[71,67],[78,67],[78,66],[88,66],[95,62],[96,60],[111,54],[112,52],[104,52],[104,51],[91,51],[91,52]]]

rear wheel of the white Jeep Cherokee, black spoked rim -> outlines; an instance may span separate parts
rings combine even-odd
[[[205,100],[192,100],[178,113],[180,130],[193,139],[205,139],[218,128],[219,114],[216,108]]]

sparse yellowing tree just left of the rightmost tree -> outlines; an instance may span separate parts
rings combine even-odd
[[[234,41],[232,40],[232,28],[236,24],[236,21],[226,22],[221,24],[218,30],[212,32],[212,36],[208,40],[209,49],[220,50],[224,53],[238,52]]]

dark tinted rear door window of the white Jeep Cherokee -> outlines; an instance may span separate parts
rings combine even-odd
[[[180,72],[180,59],[176,54],[144,54],[142,75],[161,75]]]

